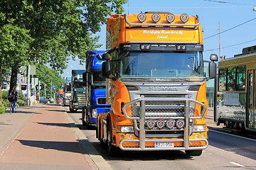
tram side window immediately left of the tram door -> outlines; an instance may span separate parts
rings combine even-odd
[[[235,88],[236,91],[245,91],[245,76],[246,76],[246,67],[245,66],[237,67],[237,77],[236,77],[237,86]]]

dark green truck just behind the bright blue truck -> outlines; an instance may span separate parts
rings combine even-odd
[[[76,112],[85,106],[86,89],[82,86],[83,72],[85,69],[72,70],[70,112]]]

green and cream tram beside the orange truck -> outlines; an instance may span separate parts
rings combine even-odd
[[[231,130],[256,131],[256,45],[218,63],[214,120]]]

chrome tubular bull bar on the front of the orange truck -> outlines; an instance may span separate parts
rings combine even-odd
[[[132,108],[132,104],[139,102],[139,116],[131,116],[127,113],[127,106],[130,106]],[[146,117],[146,102],[183,102],[183,112],[184,116],[178,116],[178,117],[158,117],[157,114],[154,117]],[[196,104],[199,106],[203,106],[203,110],[201,111],[200,116],[194,116],[194,113],[190,113],[190,106],[191,104],[195,105],[196,110]],[[192,105],[193,105],[192,104]],[[195,111],[194,110],[194,111]],[[208,147],[208,140],[205,138],[198,138],[198,139],[189,139],[189,119],[195,120],[195,119],[201,119],[203,118],[204,113],[206,112],[206,105],[204,103],[201,103],[199,101],[195,101],[191,98],[138,98],[134,101],[131,101],[129,103],[124,104],[122,111],[125,115],[125,117],[129,120],[139,120],[139,140],[121,140],[119,143],[119,147],[122,150],[137,150],[137,151],[146,151],[146,150],[194,150],[194,149],[206,149]],[[131,109],[132,112],[132,109]],[[151,118],[154,119],[184,119],[185,120],[185,126],[184,126],[184,135],[183,139],[152,139],[152,140],[146,140],[145,135],[145,120],[149,120]],[[137,129],[138,130],[138,129]],[[191,147],[189,144],[190,142],[206,142],[205,146],[201,147]],[[139,142],[139,147],[124,147],[124,142]],[[146,142],[183,142],[183,147],[146,147]]]

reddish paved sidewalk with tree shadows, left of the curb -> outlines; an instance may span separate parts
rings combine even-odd
[[[17,111],[0,115],[0,169],[97,169],[60,106]]]

